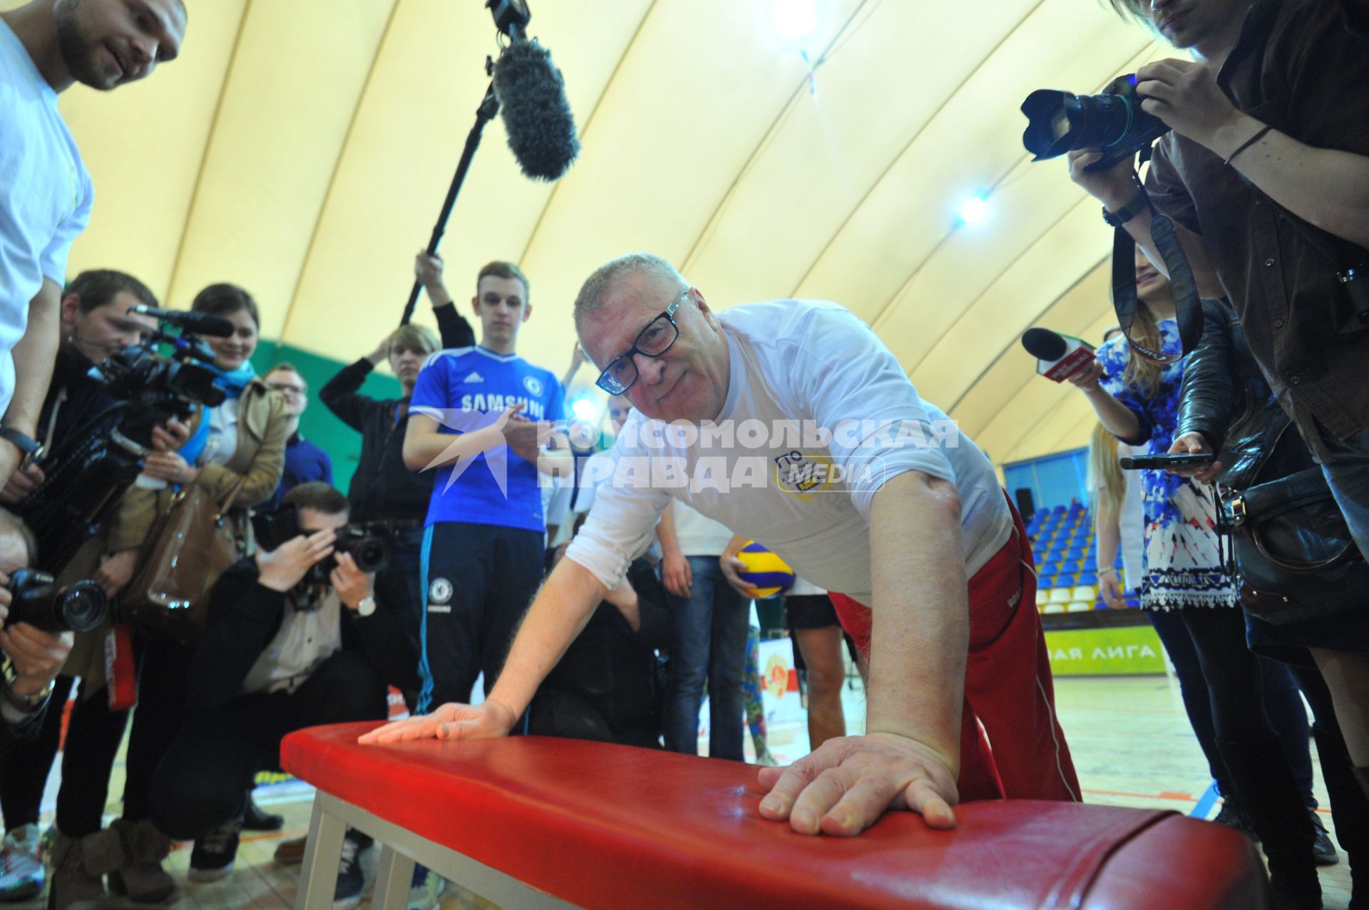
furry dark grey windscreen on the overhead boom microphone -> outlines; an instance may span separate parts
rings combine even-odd
[[[565,174],[580,141],[550,51],[537,41],[513,41],[494,64],[494,97],[523,172],[538,181]]]

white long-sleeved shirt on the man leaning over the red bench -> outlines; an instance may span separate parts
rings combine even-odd
[[[960,491],[967,573],[1002,549],[1012,513],[988,458],[917,397],[854,313],[780,300],[735,307],[720,320],[731,372],[717,420],[664,424],[634,413],[568,558],[616,587],[678,499],[765,545],[813,584],[868,605],[871,504],[906,471]]]

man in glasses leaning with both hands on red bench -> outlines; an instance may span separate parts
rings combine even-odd
[[[1021,523],[988,458],[917,397],[868,326],[813,301],[719,315],[648,253],[596,271],[575,316],[604,365],[600,387],[637,409],[612,482],[487,701],[361,742],[508,732],[680,499],[841,591],[842,624],[869,658],[867,733],[763,769],[764,817],[854,835],[891,807],[949,828],[958,799],[1077,799]]]

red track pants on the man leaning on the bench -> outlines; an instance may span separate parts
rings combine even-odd
[[[1046,635],[1027,530],[969,579],[969,655],[960,729],[960,801],[1079,801],[1079,779],[1055,718]],[[831,594],[842,627],[869,658],[869,608]],[[986,739],[987,733],[987,739]]]

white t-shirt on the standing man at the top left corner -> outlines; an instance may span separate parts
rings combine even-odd
[[[93,197],[57,93],[0,21],[0,415],[14,397],[11,350],[29,324],[29,301],[44,278],[66,283]]]

